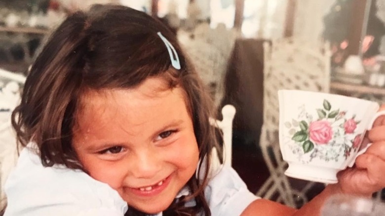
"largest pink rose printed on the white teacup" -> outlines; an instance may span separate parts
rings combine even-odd
[[[309,125],[309,137],[317,144],[327,144],[333,137],[330,122],[326,120],[313,121]]]

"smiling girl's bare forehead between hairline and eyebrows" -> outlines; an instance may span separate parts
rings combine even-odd
[[[135,89],[88,92],[82,109],[76,113],[74,133],[96,134],[99,138],[109,134],[128,136],[191,121],[182,88],[159,90],[153,84],[156,83],[147,82]]]

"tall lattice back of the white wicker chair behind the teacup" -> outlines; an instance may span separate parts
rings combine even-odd
[[[293,38],[264,43],[264,125],[278,129],[278,90],[329,92],[328,44],[314,46]]]

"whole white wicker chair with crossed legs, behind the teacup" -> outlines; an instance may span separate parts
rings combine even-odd
[[[330,56],[328,44],[308,45],[293,38],[264,43],[264,118],[260,146],[270,177],[256,193],[292,207],[306,203],[306,193],[313,186],[308,182],[296,190],[284,175],[287,163],[282,160],[278,143],[279,89],[301,89],[329,92]]]

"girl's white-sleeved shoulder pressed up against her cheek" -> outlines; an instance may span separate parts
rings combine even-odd
[[[82,171],[43,167],[39,156],[28,148],[22,150],[6,180],[5,194],[5,216],[101,215],[102,212],[102,215],[122,216],[127,210],[127,204],[109,185]]]

